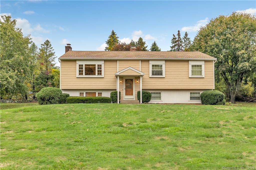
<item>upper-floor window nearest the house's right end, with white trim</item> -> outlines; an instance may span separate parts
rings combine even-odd
[[[201,60],[190,60],[189,77],[205,77],[205,62]]]

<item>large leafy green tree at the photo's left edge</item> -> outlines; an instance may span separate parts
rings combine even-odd
[[[29,75],[30,37],[23,36],[22,30],[16,27],[16,20],[11,16],[1,16],[0,20],[0,70],[1,97],[27,94],[25,81]]]

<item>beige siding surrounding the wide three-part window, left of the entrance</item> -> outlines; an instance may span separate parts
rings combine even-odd
[[[61,60],[61,89],[116,89],[116,60],[104,61],[104,77],[76,77],[76,60]]]

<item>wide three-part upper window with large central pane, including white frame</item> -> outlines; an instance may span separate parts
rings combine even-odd
[[[77,77],[104,77],[104,61],[77,60]]]

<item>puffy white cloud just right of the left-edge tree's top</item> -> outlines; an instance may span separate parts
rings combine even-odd
[[[49,30],[46,30],[40,26],[40,24],[37,24],[35,27],[31,27],[31,24],[26,19],[17,18],[16,19],[16,28],[21,28],[23,34],[31,34],[32,32],[41,32],[41,33],[49,33]]]

